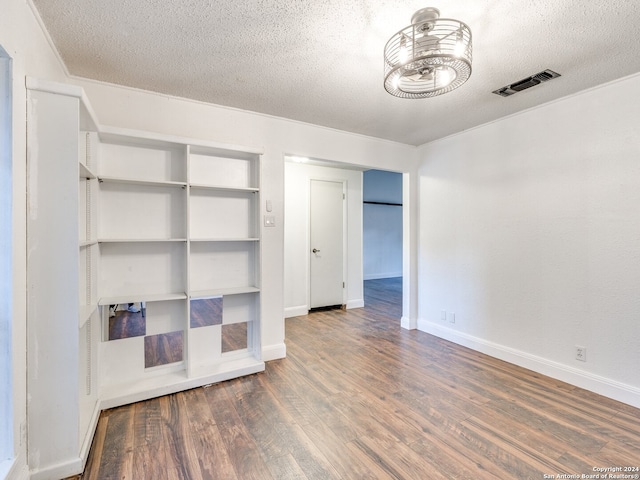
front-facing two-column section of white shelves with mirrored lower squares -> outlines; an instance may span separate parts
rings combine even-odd
[[[120,129],[104,129],[100,140],[105,400],[263,369],[259,152]],[[212,297],[221,313],[206,313],[211,302],[193,303]],[[108,308],[130,303],[145,314],[145,334],[109,340]],[[199,322],[191,321],[192,306]],[[246,340],[228,350],[225,325],[235,324],[244,324]],[[158,345],[173,351],[157,352],[155,361],[150,350]]]

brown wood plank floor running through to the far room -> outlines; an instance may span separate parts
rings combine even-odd
[[[640,466],[640,410],[366,307],[288,319],[266,371],[102,413],[86,479],[542,479]]]

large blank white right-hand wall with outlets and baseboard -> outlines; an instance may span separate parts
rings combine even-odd
[[[634,76],[421,147],[420,329],[640,406],[638,105]]]

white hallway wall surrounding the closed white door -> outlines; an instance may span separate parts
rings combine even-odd
[[[285,163],[284,312],[309,310],[309,189],[312,179],[347,184],[346,305],[364,305],[362,286],[362,172],[302,163]]]

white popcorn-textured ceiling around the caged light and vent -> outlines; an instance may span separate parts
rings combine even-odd
[[[412,145],[640,71],[638,0],[30,1],[72,75]],[[427,6],[470,26],[473,73],[392,97],[384,45]],[[562,76],[491,93],[547,68]]]

